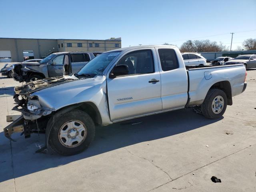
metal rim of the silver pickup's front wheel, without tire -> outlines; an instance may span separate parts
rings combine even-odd
[[[62,125],[58,138],[60,143],[68,148],[82,144],[87,136],[86,126],[79,120],[71,120]]]

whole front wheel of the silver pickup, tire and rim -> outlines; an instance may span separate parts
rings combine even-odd
[[[57,117],[50,132],[49,144],[58,154],[70,156],[86,150],[94,135],[92,118],[81,110],[72,110]]]

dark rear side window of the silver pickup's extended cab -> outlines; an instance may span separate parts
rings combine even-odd
[[[158,54],[163,71],[179,68],[178,58],[173,49],[158,49]]]

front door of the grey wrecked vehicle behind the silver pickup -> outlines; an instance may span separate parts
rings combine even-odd
[[[63,63],[65,55],[57,55],[47,65],[49,77],[63,75]]]

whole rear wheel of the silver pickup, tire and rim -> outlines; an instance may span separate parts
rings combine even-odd
[[[201,105],[202,114],[206,118],[218,119],[227,108],[226,93],[220,89],[210,89]]]

